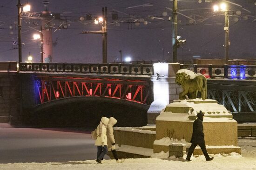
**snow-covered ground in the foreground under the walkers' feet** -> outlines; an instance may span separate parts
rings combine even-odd
[[[126,159],[118,164],[115,160],[103,160],[97,164],[95,160],[49,163],[14,163],[0,164],[0,170],[256,170],[256,139],[239,139],[242,155],[237,153],[211,155],[213,161],[206,162],[204,156],[191,157],[192,162],[169,158],[137,158]],[[154,157],[164,157],[162,153]]]

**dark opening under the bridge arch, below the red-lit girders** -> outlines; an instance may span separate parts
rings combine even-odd
[[[115,117],[116,126],[145,126],[149,105],[112,97],[76,96],[34,106],[31,124],[42,127],[95,128],[101,117]]]

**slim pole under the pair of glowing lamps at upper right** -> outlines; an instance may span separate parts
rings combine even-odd
[[[225,31],[225,59],[226,64],[228,64],[229,61],[229,11],[225,11],[225,25],[224,25],[224,31]]]

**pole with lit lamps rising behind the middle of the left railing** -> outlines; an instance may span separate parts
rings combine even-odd
[[[107,7],[102,7],[102,16],[103,22],[101,26],[102,31],[102,63],[107,63],[108,56],[107,56],[107,41],[108,41],[108,31],[107,31]]]

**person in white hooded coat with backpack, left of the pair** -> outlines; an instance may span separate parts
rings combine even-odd
[[[97,126],[96,133],[97,139],[95,140],[95,146],[97,146],[97,159],[96,162],[101,164],[101,160],[108,152],[108,138],[107,138],[107,125],[108,118],[102,117],[100,124]]]

